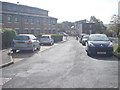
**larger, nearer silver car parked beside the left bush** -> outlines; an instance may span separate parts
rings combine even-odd
[[[12,51],[16,50],[40,50],[39,40],[32,34],[19,34],[13,39]]]

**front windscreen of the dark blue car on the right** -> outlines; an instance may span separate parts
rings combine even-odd
[[[90,41],[109,41],[106,35],[92,35],[89,37]]]

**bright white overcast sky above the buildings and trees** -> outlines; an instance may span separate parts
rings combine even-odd
[[[48,10],[48,15],[63,21],[75,22],[83,19],[90,20],[91,16],[110,22],[114,14],[118,14],[120,0],[2,0],[5,2],[28,5]]]

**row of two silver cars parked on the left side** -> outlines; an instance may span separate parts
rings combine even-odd
[[[54,44],[54,40],[50,35],[43,35],[41,38],[37,38],[32,34],[19,34],[13,39],[12,51],[16,50],[40,50],[42,44]]]

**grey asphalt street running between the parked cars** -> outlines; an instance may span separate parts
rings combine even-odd
[[[3,88],[118,87],[118,60],[114,56],[89,57],[85,46],[73,37],[48,47],[3,68],[7,79]]]

